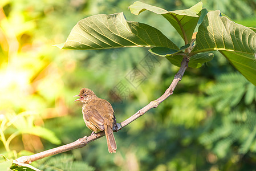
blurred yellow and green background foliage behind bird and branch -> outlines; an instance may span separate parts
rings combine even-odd
[[[242,25],[256,27],[255,1],[202,2],[209,10],[219,9]],[[178,68],[150,55],[147,49],[72,51],[52,46],[64,42],[80,19],[121,11],[129,21],[159,28],[182,45],[163,18],[147,12],[131,15],[128,6],[132,3],[0,2],[1,154],[14,159],[90,135],[82,106],[72,98],[82,87],[111,102],[117,122],[164,93]],[[147,3],[176,10],[197,1]],[[129,79],[135,67],[144,78],[140,84]],[[253,170],[255,99],[255,87],[215,52],[214,59],[203,67],[188,68],[174,94],[159,107],[115,133],[116,154],[108,153],[103,138],[66,156],[60,154],[32,165],[44,170],[70,170],[70,166],[76,170]]]

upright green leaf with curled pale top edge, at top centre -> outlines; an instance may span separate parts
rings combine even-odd
[[[185,40],[185,44],[189,43],[194,28],[196,28],[200,11],[202,10],[202,2],[198,2],[196,5],[186,10],[166,11],[160,7],[148,5],[143,2],[135,2],[129,6],[132,14],[139,15],[145,10],[152,11],[156,14],[161,14],[166,18],[170,24],[178,31],[178,34]]]

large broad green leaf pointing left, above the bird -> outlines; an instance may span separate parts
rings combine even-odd
[[[64,45],[77,50],[99,50],[119,47],[178,47],[159,30],[149,25],[127,21],[123,13],[98,14],[79,21]]]

